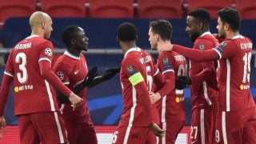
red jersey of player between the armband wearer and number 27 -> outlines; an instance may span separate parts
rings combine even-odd
[[[170,92],[161,98],[161,122],[185,121],[184,90],[175,90],[178,76],[186,75],[186,58],[176,52],[163,51],[158,55],[158,69],[163,77],[173,83]]]

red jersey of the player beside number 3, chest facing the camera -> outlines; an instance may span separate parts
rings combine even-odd
[[[73,89],[74,86],[81,83],[88,73],[85,56],[80,54],[80,56],[77,57],[70,54],[68,51],[57,59],[53,70],[55,74],[58,75],[58,78],[60,78],[70,89]],[[83,98],[82,106],[73,111],[71,102],[62,104],[61,111],[63,118],[75,122],[89,122],[90,113],[86,101],[86,88],[80,91],[78,96]]]

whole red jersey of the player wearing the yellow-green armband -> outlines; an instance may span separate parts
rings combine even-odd
[[[157,73],[154,58],[146,51],[136,47],[126,52],[120,71],[123,112],[119,127],[150,126],[154,122],[154,116],[158,114],[153,116],[154,105],[151,105],[148,91],[152,90],[154,74]],[[134,74],[141,74],[143,78],[135,86],[129,80]],[[138,79],[141,78],[136,81]]]

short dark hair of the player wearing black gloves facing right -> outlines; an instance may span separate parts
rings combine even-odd
[[[81,29],[79,29],[79,26],[77,25],[70,25],[64,28],[62,31],[62,40],[66,46],[70,46],[71,39],[76,38],[79,30]]]

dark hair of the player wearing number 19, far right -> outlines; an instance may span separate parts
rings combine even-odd
[[[238,10],[232,8],[223,8],[218,10],[218,17],[221,19],[222,23],[227,23],[230,25],[230,29],[238,31],[241,24],[241,16]]]

